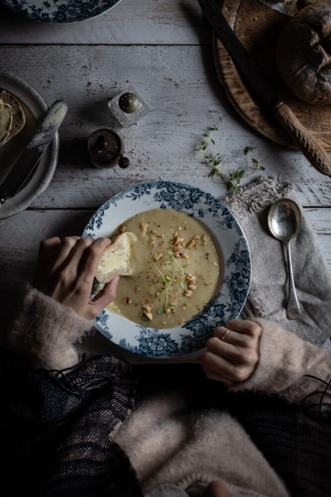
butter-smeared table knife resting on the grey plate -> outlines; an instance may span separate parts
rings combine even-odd
[[[67,108],[63,100],[57,100],[47,111],[35,135],[0,184],[0,207],[8,198],[15,196],[32,176],[41,157],[60,128]]]

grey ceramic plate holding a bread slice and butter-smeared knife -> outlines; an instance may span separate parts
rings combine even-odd
[[[38,123],[48,109],[47,103],[28,83],[16,76],[0,71],[0,90],[14,95],[21,103],[26,123],[20,133],[0,147],[0,183],[15,164],[18,157],[37,130]],[[0,209],[0,219],[23,211],[49,185],[58,163],[59,134],[56,133],[41,158],[27,185]]]

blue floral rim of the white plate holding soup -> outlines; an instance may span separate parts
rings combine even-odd
[[[213,234],[224,262],[219,293],[182,327],[148,328],[108,309],[102,311],[95,322],[107,338],[131,352],[172,357],[200,350],[216,326],[223,326],[239,316],[251,283],[251,254],[241,227],[222,202],[199,188],[173,181],[151,181],[118,193],[92,216],[82,236],[109,237],[134,214],[157,207],[197,217]]]

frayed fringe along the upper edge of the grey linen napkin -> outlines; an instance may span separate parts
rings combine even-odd
[[[228,195],[223,203],[240,221],[256,212],[263,211],[280,198],[286,198],[294,191],[292,183],[279,183],[277,178],[262,176],[244,186],[240,193],[235,192]]]

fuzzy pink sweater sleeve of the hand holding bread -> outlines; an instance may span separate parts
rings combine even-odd
[[[56,300],[28,286],[17,319],[8,332],[7,348],[35,368],[65,369],[78,362],[74,342],[93,327]]]

